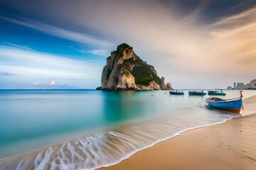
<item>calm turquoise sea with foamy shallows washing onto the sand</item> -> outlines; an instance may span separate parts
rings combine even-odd
[[[33,169],[94,169],[179,132],[239,116],[204,106],[208,95],[184,92],[1,90],[0,159],[45,149],[27,159],[0,161],[0,169],[28,169],[29,164]],[[224,98],[240,95],[225,92]],[[245,98],[254,95],[256,91],[244,91]]]

